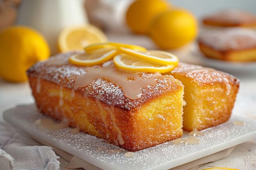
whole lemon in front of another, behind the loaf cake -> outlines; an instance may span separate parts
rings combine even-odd
[[[176,49],[197,35],[195,17],[184,9],[172,9],[157,16],[150,27],[150,37],[162,49]]]

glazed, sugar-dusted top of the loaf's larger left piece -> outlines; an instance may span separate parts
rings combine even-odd
[[[99,98],[108,105],[128,110],[183,87],[171,75],[119,70],[112,61],[100,66],[76,66],[68,62],[68,58],[75,53],[78,52],[58,54],[48,61],[39,62],[27,74],[37,77],[39,82],[44,79],[73,89],[85,97]]]

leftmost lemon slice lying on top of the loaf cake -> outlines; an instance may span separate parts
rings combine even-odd
[[[80,66],[94,66],[112,59],[117,54],[116,49],[98,49],[89,53],[72,55],[69,61]]]

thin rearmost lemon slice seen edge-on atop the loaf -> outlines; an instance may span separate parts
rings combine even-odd
[[[92,44],[92,45],[86,46],[84,48],[84,50],[87,52],[90,52],[90,51],[94,51],[94,50],[102,49],[102,48],[119,49],[121,47],[126,48],[126,49],[133,49],[135,51],[146,51],[147,50],[146,48],[144,48],[142,46],[131,45],[131,44],[122,44],[122,43],[117,43],[117,42]]]

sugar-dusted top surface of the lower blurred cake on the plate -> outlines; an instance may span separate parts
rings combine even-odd
[[[256,48],[256,32],[245,28],[215,30],[203,33],[199,42],[218,51]]]

